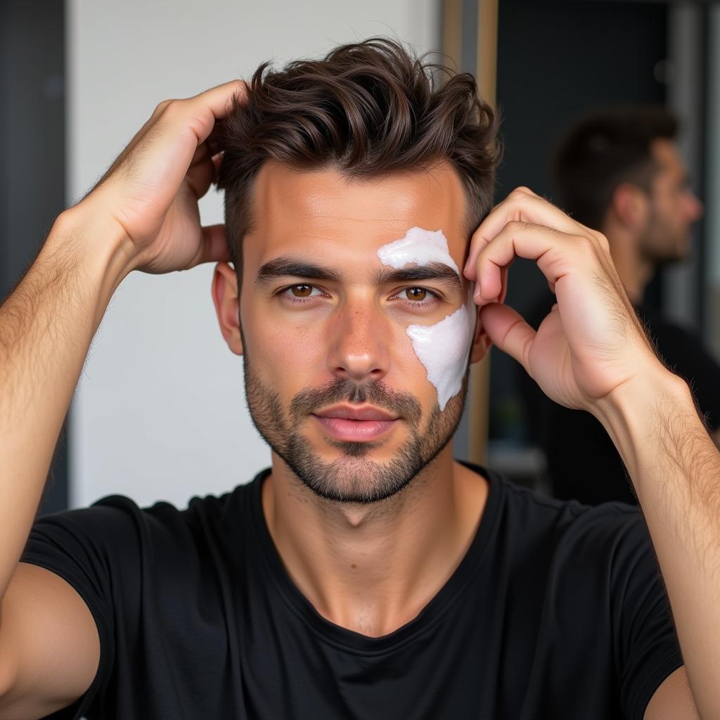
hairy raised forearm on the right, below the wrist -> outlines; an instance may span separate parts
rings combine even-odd
[[[688,386],[663,371],[608,400],[670,598],[693,696],[720,716],[720,454]]]

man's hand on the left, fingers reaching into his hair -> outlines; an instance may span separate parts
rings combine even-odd
[[[224,227],[202,228],[197,201],[217,179],[217,138],[233,81],[183,100],[166,100],[132,138],[78,210],[107,218],[130,241],[133,266],[150,273],[228,260]]]

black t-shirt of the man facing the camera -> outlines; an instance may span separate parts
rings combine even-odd
[[[91,688],[53,718],[642,718],[683,660],[639,511],[473,469],[490,492],[467,554],[379,638],[326,621],[290,580],[269,471],[186,510],[113,495],[40,518],[22,560],[78,590],[101,643]]]

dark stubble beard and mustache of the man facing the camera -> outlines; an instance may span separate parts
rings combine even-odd
[[[244,364],[248,410],[258,433],[305,487],[318,497],[337,503],[377,503],[407,487],[451,440],[462,418],[467,395],[466,371],[462,390],[449,400],[445,410],[441,411],[435,402],[426,422],[421,423],[420,402],[409,392],[390,390],[382,381],[359,384],[337,378],[322,387],[297,393],[286,412],[279,395],[254,371],[247,347]],[[313,451],[301,428],[313,411],[339,402],[353,405],[369,402],[400,416],[400,421],[408,426],[410,438],[388,462],[369,457],[384,441],[330,441],[341,456],[325,462]]]

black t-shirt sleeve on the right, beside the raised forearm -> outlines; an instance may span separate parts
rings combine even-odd
[[[647,527],[635,512],[625,520],[611,559],[613,654],[625,715],[642,720],[655,690],[683,657]]]

